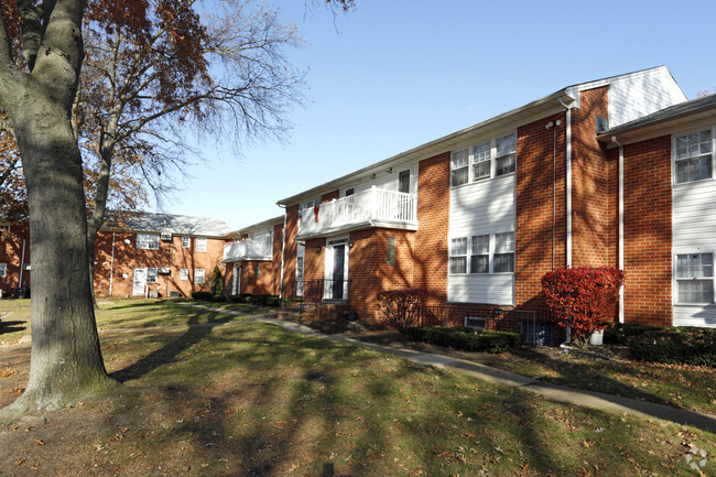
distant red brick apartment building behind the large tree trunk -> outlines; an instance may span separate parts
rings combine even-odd
[[[30,286],[30,238],[26,227],[2,227],[12,232],[0,239],[0,290],[10,296]],[[235,235],[221,220],[167,214],[102,227],[95,242],[95,294],[188,296],[207,288]]]

